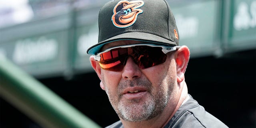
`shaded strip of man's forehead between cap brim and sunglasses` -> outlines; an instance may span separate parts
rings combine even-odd
[[[112,47],[115,47],[115,46],[123,46],[123,45],[128,45],[128,44],[140,44],[140,43],[142,43],[142,41],[138,41],[138,40],[117,40],[117,41],[105,44],[104,46],[102,46],[100,51],[103,51],[107,48],[112,48]]]

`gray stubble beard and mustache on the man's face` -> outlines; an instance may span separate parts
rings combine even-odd
[[[161,82],[159,83],[160,90],[157,91],[157,94],[154,96],[152,92],[148,92],[150,93],[150,96],[147,98],[146,101],[143,101],[143,103],[141,103],[142,99],[120,101],[120,99],[122,98],[122,96],[118,95],[120,94],[120,90],[122,90],[122,88],[127,86],[127,83],[130,83],[130,86],[134,86],[134,82],[126,81],[122,83],[118,85],[118,91],[117,91],[118,93],[114,94],[116,96],[113,96],[113,94],[110,94],[108,89],[106,89],[106,93],[108,95],[108,98],[110,100],[112,107],[114,108],[118,116],[128,122],[141,122],[141,121],[146,121],[154,118],[164,110],[164,108],[168,104],[170,97],[173,95],[172,92],[173,92],[174,85],[173,84],[169,85],[166,91],[166,89],[163,86],[164,84]],[[148,89],[150,89],[152,86],[151,83],[148,82],[147,80],[135,80],[135,83],[136,85],[139,85],[139,84],[143,86],[146,85]],[[170,84],[170,82],[168,83]],[[118,101],[114,100],[113,97],[118,97]],[[138,110],[138,108],[140,110]]]

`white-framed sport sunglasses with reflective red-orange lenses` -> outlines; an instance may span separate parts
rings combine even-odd
[[[141,68],[150,68],[166,61],[166,53],[175,51],[180,46],[162,46],[155,44],[131,44],[108,48],[94,55],[104,70],[122,71],[128,57]]]

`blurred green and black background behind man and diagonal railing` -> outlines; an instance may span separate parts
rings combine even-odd
[[[98,42],[98,12],[106,2],[0,0],[0,59],[13,62],[101,127],[119,118],[86,50]],[[256,0],[167,2],[180,45],[191,52],[185,74],[189,94],[228,127],[256,128]],[[42,128],[0,95],[0,128],[15,127]]]

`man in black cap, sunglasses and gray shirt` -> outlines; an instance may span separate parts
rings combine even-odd
[[[188,94],[190,52],[164,0],[113,0],[87,50],[120,121],[108,128],[227,128]]]

